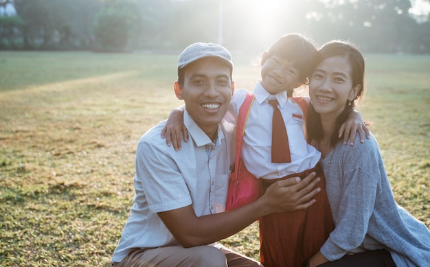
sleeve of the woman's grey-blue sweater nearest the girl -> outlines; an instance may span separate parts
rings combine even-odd
[[[335,229],[321,247],[321,253],[330,261],[340,259],[362,244],[381,188],[373,141],[340,149],[343,149],[341,159],[331,163],[341,164],[339,210],[334,218]]]

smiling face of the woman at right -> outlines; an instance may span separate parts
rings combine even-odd
[[[310,76],[310,101],[321,117],[336,119],[357,95],[359,86],[352,87],[352,69],[346,57],[326,58]]]

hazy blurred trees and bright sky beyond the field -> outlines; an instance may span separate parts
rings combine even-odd
[[[178,51],[196,41],[263,51],[299,32],[317,46],[430,54],[429,0],[0,0],[0,49]]]

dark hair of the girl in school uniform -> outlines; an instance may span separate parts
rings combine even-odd
[[[300,71],[299,82],[302,84],[308,84],[308,76],[319,61],[317,47],[301,34],[286,34],[276,40],[265,58],[271,56],[280,56],[293,62],[294,67]]]

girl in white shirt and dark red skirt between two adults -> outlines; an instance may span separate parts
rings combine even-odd
[[[272,213],[260,218],[260,261],[264,266],[301,266],[317,253],[333,229],[324,175],[318,165],[321,154],[306,142],[302,109],[287,96],[291,95],[293,89],[307,83],[307,77],[317,62],[317,55],[315,45],[304,36],[282,36],[269,51],[264,52],[261,80],[253,89],[255,101],[247,119],[241,151],[241,159],[247,170],[262,179],[264,187],[280,179],[306,176],[310,172],[317,172],[322,182],[315,204],[308,209]],[[236,123],[239,108],[247,93],[246,90],[234,91],[225,117],[227,121]],[[278,108],[284,118],[291,162],[271,161],[271,117],[274,108],[269,100],[272,99],[278,100]],[[354,122],[352,136],[363,125],[361,116],[357,114],[353,113],[350,119]],[[172,113],[171,117],[181,122],[181,114]]]

